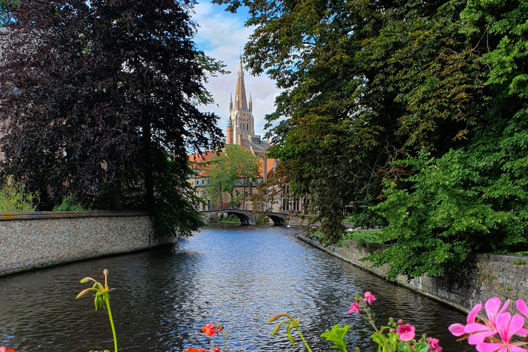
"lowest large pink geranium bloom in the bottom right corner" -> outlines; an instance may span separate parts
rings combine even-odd
[[[502,343],[488,343],[481,342],[476,345],[478,352],[527,352],[515,344],[510,344],[511,338],[518,333],[522,326],[525,325],[525,319],[519,314],[515,314],[513,318],[508,312],[494,316],[495,329]],[[524,343],[523,343],[524,344]]]

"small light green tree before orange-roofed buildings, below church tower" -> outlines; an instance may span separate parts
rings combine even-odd
[[[228,192],[230,206],[238,206],[245,195],[239,195],[236,187],[243,186],[245,193],[246,187],[250,187],[259,177],[259,168],[259,157],[248,148],[236,144],[225,146],[222,153],[204,165],[209,177],[206,196],[223,204],[223,192]]]

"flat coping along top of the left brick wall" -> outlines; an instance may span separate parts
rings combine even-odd
[[[148,212],[93,210],[82,212],[0,212],[0,221],[67,219],[76,217],[148,217]]]

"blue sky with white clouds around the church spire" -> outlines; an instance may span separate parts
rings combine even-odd
[[[239,67],[239,56],[245,43],[249,41],[252,28],[245,28],[248,14],[244,10],[237,14],[225,12],[225,5],[214,5],[202,1],[195,6],[192,19],[199,25],[195,43],[206,55],[223,61],[230,74],[209,78],[206,89],[214,98],[214,104],[201,106],[203,112],[210,111],[220,116],[219,127],[224,131],[229,118],[229,97],[234,96],[236,87],[236,70]],[[251,76],[244,72],[245,91],[252,95],[254,128],[257,135],[264,137],[264,116],[275,110],[274,100],[280,91],[273,80],[265,76]]]

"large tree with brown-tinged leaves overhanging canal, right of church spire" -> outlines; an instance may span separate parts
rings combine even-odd
[[[216,2],[250,8],[248,66],[285,89],[267,118],[285,118],[270,131],[270,155],[295,192],[313,196],[325,243],[340,239],[344,205],[380,201],[391,161],[421,148],[442,155],[476,123],[470,97],[482,82],[459,36],[460,4]]]

